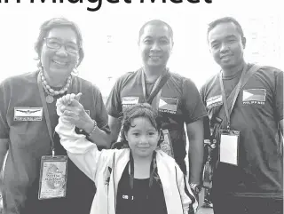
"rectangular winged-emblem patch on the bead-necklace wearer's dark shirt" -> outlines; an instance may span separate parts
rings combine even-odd
[[[42,121],[43,107],[14,107],[14,121]]]

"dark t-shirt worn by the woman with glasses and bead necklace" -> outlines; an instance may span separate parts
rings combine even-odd
[[[43,107],[36,76],[37,72],[13,76],[0,84],[0,139],[10,139],[4,170],[4,213],[89,214],[95,186],[69,159],[67,197],[37,199],[41,156],[51,155],[51,139],[45,118],[43,115],[42,121],[14,121],[15,107]],[[109,131],[99,89],[79,77],[75,77],[70,87],[73,93],[83,93],[80,102],[84,109],[90,111],[91,118],[97,121],[100,129]],[[55,104],[56,101],[47,104],[52,132],[59,119]],[[67,155],[56,133],[54,141],[56,155]]]

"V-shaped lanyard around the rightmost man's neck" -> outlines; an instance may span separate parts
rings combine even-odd
[[[241,77],[240,77],[239,83],[236,86],[236,91],[235,91],[234,96],[233,96],[233,103],[232,103],[232,107],[230,109],[230,112],[229,112],[228,102],[227,102],[227,99],[225,97],[225,89],[224,89],[224,83],[223,83],[223,80],[222,80],[222,73],[220,72],[220,74],[219,74],[219,82],[220,82],[220,85],[221,85],[222,100],[223,100],[223,104],[224,104],[224,108],[225,108],[225,116],[227,117],[227,129],[228,130],[230,130],[230,126],[231,126],[230,116],[231,116],[231,113],[233,111],[234,104],[235,104],[235,102],[236,102],[236,100],[239,96],[239,93],[240,93],[240,90],[241,90],[241,84],[244,81],[244,76],[246,74],[247,67],[248,66],[245,65],[243,67],[242,71],[241,71]]]

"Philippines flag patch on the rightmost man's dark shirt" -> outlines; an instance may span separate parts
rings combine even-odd
[[[242,91],[243,104],[260,104],[264,105],[266,99],[265,89],[247,89]]]

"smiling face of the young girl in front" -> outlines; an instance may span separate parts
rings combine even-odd
[[[130,130],[124,134],[134,158],[152,156],[160,139],[160,132],[146,117],[133,119]]]

